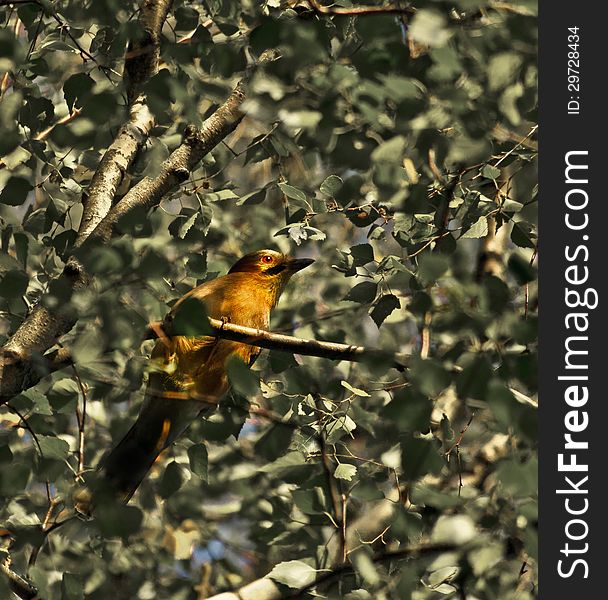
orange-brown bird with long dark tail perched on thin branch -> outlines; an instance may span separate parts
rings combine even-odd
[[[270,311],[287,282],[312,262],[274,250],[252,252],[228,274],[199,285],[173,306],[163,324],[167,335],[152,351],[153,370],[137,421],[101,461],[101,478],[123,501],[131,498],[157,456],[228,392],[228,359],[239,357],[251,366],[260,353],[255,346],[213,336],[172,335],[180,309],[192,304],[188,299],[196,299],[204,305],[201,314],[206,311],[215,319],[268,329]],[[82,500],[81,496],[80,504]]]

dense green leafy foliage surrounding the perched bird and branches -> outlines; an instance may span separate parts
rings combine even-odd
[[[268,573],[273,597],[533,598],[535,2],[174,2],[116,199],[247,76],[245,117],[79,254],[73,294],[137,3],[0,4],[0,341],[38,301],[77,317],[73,364],[0,408],[0,558],[45,599],[206,598]],[[79,470],[138,413],[146,324],[265,247],[316,259],[274,331],[408,368],[264,352],[128,505],[73,518]]]

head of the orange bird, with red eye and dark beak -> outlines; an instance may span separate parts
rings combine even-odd
[[[258,250],[239,259],[228,273],[250,273],[258,285],[268,289],[274,305],[291,276],[313,262],[312,258],[292,258],[275,250]]]

